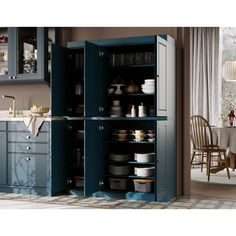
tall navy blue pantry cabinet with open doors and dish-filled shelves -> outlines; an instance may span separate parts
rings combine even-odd
[[[70,42],[68,47],[54,47],[59,62],[53,64],[60,70],[52,81],[53,114],[68,116],[76,145],[74,137],[83,135],[83,173],[69,168],[68,188],[87,196],[174,198],[175,41],[168,35],[143,36]],[[61,89],[54,89],[58,85]],[[131,116],[132,107],[136,115]],[[138,132],[141,140],[135,139]],[[70,149],[75,160],[78,148]],[[137,161],[140,154],[152,158]],[[126,159],[114,159],[122,155]]]

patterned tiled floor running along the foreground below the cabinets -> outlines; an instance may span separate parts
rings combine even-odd
[[[236,198],[178,197],[167,203],[94,197],[40,197],[0,193],[1,209],[236,209]]]

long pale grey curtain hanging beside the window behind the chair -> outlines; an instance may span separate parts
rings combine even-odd
[[[219,93],[219,28],[190,29],[191,115],[202,115],[210,124],[218,123]]]

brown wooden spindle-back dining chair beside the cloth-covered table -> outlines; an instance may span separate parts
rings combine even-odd
[[[230,179],[226,150],[213,144],[211,126],[204,117],[200,115],[191,117],[190,138],[193,144],[191,165],[201,165],[201,171],[206,165],[208,181],[211,173],[217,173],[225,168]],[[217,165],[213,164],[213,161]]]

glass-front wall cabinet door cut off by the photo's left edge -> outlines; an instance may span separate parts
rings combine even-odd
[[[0,28],[0,76],[8,79],[9,73],[9,56],[10,56],[10,32],[9,28]]]

